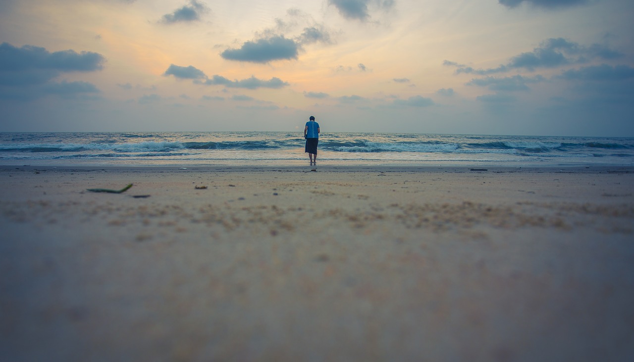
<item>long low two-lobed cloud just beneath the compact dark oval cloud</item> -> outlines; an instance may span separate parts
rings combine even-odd
[[[279,89],[288,85],[288,82],[284,82],[280,78],[273,77],[269,80],[262,80],[254,77],[242,80],[230,80],[221,75],[212,75],[211,78],[205,75],[205,72],[196,68],[195,66],[178,66],[171,64],[164,75],[173,75],[179,79],[192,79],[194,84],[204,85],[224,85],[228,88],[246,88],[246,89],[258,89],[258,88],[271,88]]]

